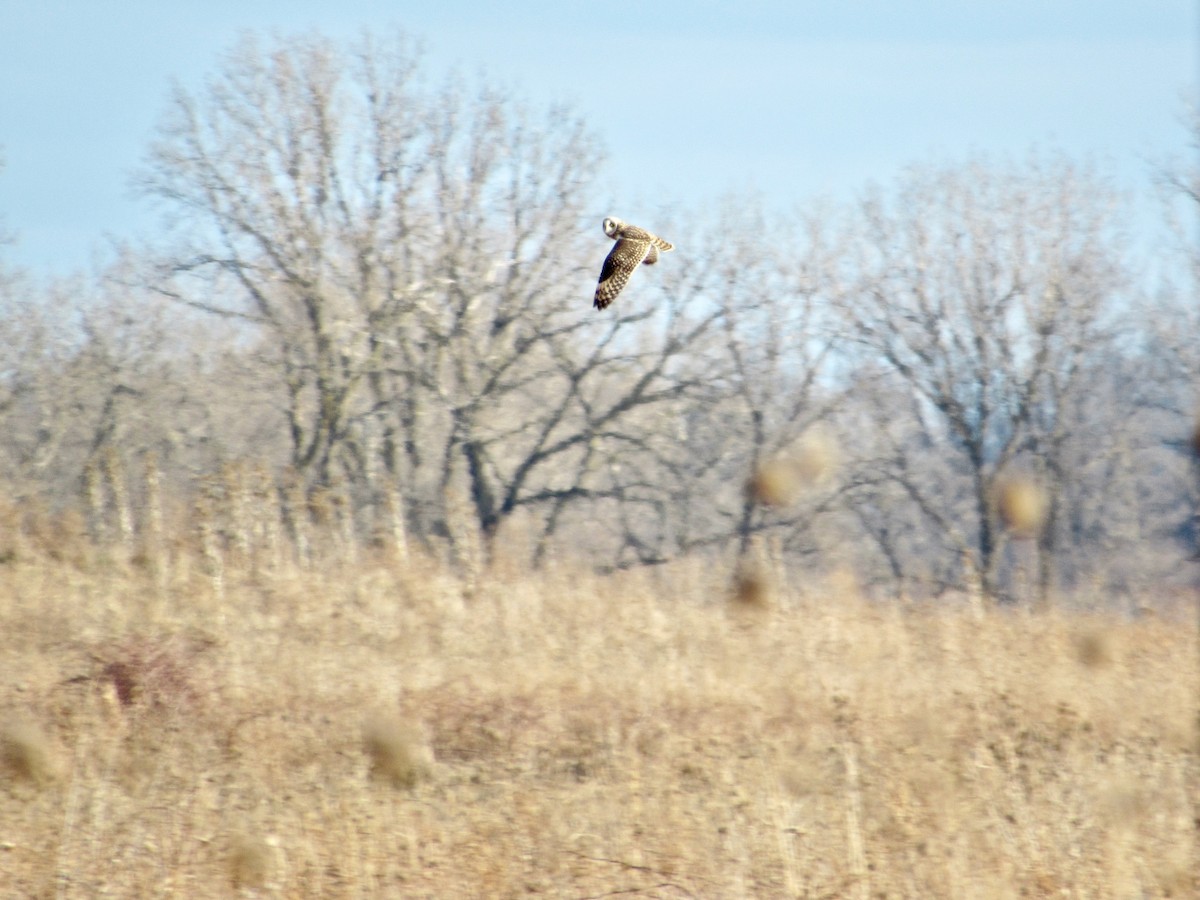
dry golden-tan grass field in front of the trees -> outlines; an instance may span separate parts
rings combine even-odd
[[[1194,610],[728,588],[7,552],[0,896],[1200,896]]]

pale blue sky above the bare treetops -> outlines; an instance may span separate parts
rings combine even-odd
[[[486,73],[599,133],[620,209],[756,190],[853,196],[913,162],[1030,148],[1150,192],[1182,156],[1192,0],[0,0],[4,256],[34,272],[152,230],[132,196],[170,79],[198,88],[247,30],[400,25],[434,77]]]

